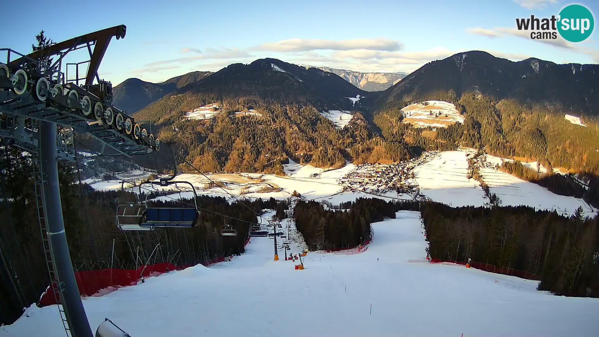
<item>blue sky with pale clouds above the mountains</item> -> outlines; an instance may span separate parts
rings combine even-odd
[[[585,5],[597,21],[596,1],[10,1],[0,21],[0,47],[31,50],[41,29],[54,41],[120,24],[99,74],[113,83],[129,77],[161,82],[194,70],[271,57],[296,64],[356,71],[416,70],[467,50],[520,61],[599,63],[599,38],[582,43],[539,42],[515,30],[516,17],[550,17],[565,5]],[[36,19],[23,24],[20,11]],[[55,19],[48,13],[59,13]],[[42,19],[44,18],[44,19]],[[72,23],[65,23],[69,20]],[[595,29],[596,31],[597,29]],[[68,62],[83,61],[71,55]]]

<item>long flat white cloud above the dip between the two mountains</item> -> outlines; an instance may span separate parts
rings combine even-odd
[[[386,50],[394,51],[403,49],[403,44],[384,38],[357,38],[353,40],[319,40],[307,38],[292,38],[278,42],[267,42],[257,47],[257,50],[271,52],[304,52],[308,50]]]

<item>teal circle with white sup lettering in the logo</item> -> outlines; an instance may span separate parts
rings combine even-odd
[[[565,40],[584,41],[591,36],[594,26],[593,14],[582,5],[569,5],[559,12],[558,31]]]

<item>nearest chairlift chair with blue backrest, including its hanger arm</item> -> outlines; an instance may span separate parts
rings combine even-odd
[[[170,146],[168,147],[170,148]],[[140,195],[142,185],[169,186],[176,183],[187,183],[192,188],[195,207],[147,207],[148,195],[146,194],[146,200],[143,203],[119,204],[117,206],[116,224],[121,230],[153,230],[156,227],[191,228],[196,226],[196,220],[199,217],[198,195],[192,183],[173,180],[177,176],[177,165],[174,160],[173,149],[171,149],[171,154],[173,155],[173,163],[175,164],[173,176],[162,177],[159,181],[140,183],[138,185]]]

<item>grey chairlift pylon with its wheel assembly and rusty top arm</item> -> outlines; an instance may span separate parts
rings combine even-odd
[[[159,140],[133,116],[112,105],[112,85],[98,76],[111,39],[125,34],[126,26],[120,25],[28,55],[0,49],[0,55],[7,55],[6,62],[0,63],[0,137],[3,145],[31,154],[44,255],[67,336],[92,337],[92,330],[66,242],[58,161],[83,158],[74,148],[74,133],[96,139],[102,148],[98,156],[132,157],[160,147]],[[78,49],[87,50],[89,60],[66,64],[65,56]],[[73,67],[75,74],[69,77]]]

